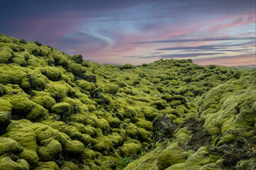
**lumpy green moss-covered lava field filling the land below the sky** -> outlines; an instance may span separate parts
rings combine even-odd
[[[0,34],[0,170],[255,169],[255,78],[191,60],[102,66]]]

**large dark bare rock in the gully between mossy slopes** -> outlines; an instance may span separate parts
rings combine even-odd
[[[164,137],[171,137],[177,129],[177,125],[169,118],[169,115],[163,115],[152,123],[153,141],[157,142]]]

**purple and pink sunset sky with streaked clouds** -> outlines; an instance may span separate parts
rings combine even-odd
[[[255,0],[1,0],[0,33],[100,64],[255,65]]]

